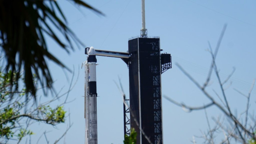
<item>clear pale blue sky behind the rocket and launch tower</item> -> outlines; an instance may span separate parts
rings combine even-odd
[[[140,0],[88,0],[91,6],[102,11],[101,16],[90,10],[77,8],[69,1],[57,0],[69,22],[70,28],[85,43],[86,47],[95,49],[123,51],[128,50],[128,39],[140,34],[141,1]],[[208,41],[215,49],[224,24],[227,24],[219,53],[217,66],[224,80],[233,67],[235,72],[227,83],[227,99],[231,103],[232,111],[240,114],[245,110],[246,99],[234,91],[235,89],[247,94],[253,79],[256,78],[256,1],[255,0],[161,0],[145,1],[146,29],[149,36],[159,36],[163,53],[172,56],[173,68],[162,74],[162,95],[166,95],[191,106],[207,104],[208,99],[201,91],[178,69],[179,63],[200,84],[205,81],[211,63],[207,51]],[[73,123],[64,140],[66,144],[83,144],[85,141],[84,119],[84,69],[82,62],[86,61],[84,48],[75,49],[66,54],[52,40],[48,40],[49,51],[66,64],[75,67],[79,79],[69,94],[73,102],[64,106],[71,114]],[[56,90],[63,92],[69,88],[71,73],[49,62],[51,73],[56,80]],[[98,143],[122,144],[123,142],[123,104],[115,81],[121,79],[126,95],[129,95],[129,75],[127,65],[118,58],[97,57],[97,111],[98,111]],[[65,73],[70,77],[67,80]],[[211,79],[211,86],[207,88],[213,97],[214,90],[221,94],[215,74]],[[256,89],[252,91],[254,110]],[[50,98],[50,97],[46,97]],[[61,102],[61,101],[60,101]],[[207,131],[207,121],[204,111],[184,112],[180,107],[162,99],[163,110],[163,142],[165,144],[189,144],[193,136],[201,136]],[[212,117],[217,118],[221,112],[216,107],[207,110],[211,124]],[[223,117],[223,115],[222,115]],[[67,119],[67,123],[68,123]],[[66,124],[56,129],[50,126],[34,124],[37,135],[32,137],[32,143],[46,128],[51,143],[61,136]],[[41,130],[39,130],[41,129]],[[219,134],[220,139],[222,133]],[[195,138],[198,143],[202,139]],[[62,141],[63,142],[63,141]],[[25,143],[25,142],[24,142]],[[45,144],[44,137],[39,144]]]

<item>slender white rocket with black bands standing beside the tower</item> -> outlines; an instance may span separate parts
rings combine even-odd
[[[87,138],[86,144],[97,144],[97,88],[96,88],[96,52],[93,47],[88,50],[87,58],[87,82],[88,95],[86,97],[87,109]]]

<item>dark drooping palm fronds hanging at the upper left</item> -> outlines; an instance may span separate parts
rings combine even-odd
[[[94,9],[82,0],[67,0],[74,6]],[[47,60],[60,67],[67,67],[53,54],[49,53],[46,37],[53,39],[63,50],[69,53],[82,42],[67,26],[66,17],[56,0],[0,0],[0,53],[4,54],[6,73],[10,70],[10,83],[18,81],[24,71],[25,93],[35,97],[36,87],[33,73],[39,80],[43,91],[53,89]],[[69,70],[69,69],[67,69]],[[14,74],[17,74],[14,77]],[[7,78],[6,78],[7,79]],[[10,90],[17,91],[18,83]]]

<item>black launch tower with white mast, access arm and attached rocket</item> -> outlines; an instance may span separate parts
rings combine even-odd
[[[163,144],[161,74],[171,68],[171,55],[161,51],[160,38],[147,36],[144,0],[141,35],[128,40],[128,53],[85,48],[86,144],[97,144],[96,56],[121,58],[129,68],[129,99],[123,96],[123,102],[130,104],[123,106],[124,135],[134,128],[137,144]]]

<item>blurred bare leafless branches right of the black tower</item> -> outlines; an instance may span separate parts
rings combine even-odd
[[[225,137],[225,139],[221,142],[222,144],[224,144],[224,143],[230,144],[230,143],[232,143],[233,140],[239,141],[240,143],[243,143],[243,144],[246,144],[248,142],[248,139],[250,139],[250,140],[255,139],[255,141],[256,141],[256,135],[255,135],[256,119],[254,118],[254,112],[253,112],[253,116],[251,116],[249,113],[249,108],[250,108],[250,104],[251,104],[250,103],[250,94],[254,88],[255,80],[253,81],[253,84],[249,90],[248,95],[242,94],[240,91],[235,89],[235,91],[237,91],[239,94],[241,94],[247,98],[246,110],[245,110],[245,112],[241,113],[238,117],[236,111],[234,111],[234,112],[231,111],[231,107],[230,107],[231,104],[229,103],[229,101],[227,99],[227,95],[225,93],[226,86],[224,88],[224,85],[228,81],[230,81],[230,78],[232,77],[232,75],[235,71],[235,68],[233,68],[233,70],[229,74],[229,76],[224,81],[222,81],[221,77],[219,75],[219,71],[217,69],[216,61],[215,61],[219,47],[221,45],[221,41],[222,41],[224,33],[225,33],[225,30],[226,30],[226,24],[223,27],[223,30],[221,32],[221,35],[219,37],[219,40],[218,40],[218,43],[217,43],[217,46],[216,46],[216,49],[214,52],[211,48],[210,42],[208,42],[212,62],[210,65],[210,70],[208,72],[206,81],[203,83],[202,86],[189,73],[187,73],[181,65],[176,63],[177,67],[194,83],[195,86],[197,86],[202,91],[203,95],[205,95],[207,98],[209,98],[210,103],[207,105],[199,106],[199,107],[191,107],[191,106],[187,106],[183,103],[178,103],[178,102],[174,101],[173,99],[171,99],[170,97],[167,97],[167,96],[163,96],[163,97],[166,98],[169,102],[182,107],[182,109],[185,110],[186,112],[191,112],[192,110],[204,109],[206,117],[207,117],[206,109],[212,105],[215,105],[222,113],[224,113],[224,115],[226,117],[225,121],[227,121],[227,124],[228,124],[227,126],[223,126],[223,123],[221,123],[219,120],[217,120],[217,121],[215,120],[216,126],[214,128],[211,128],[209,119],[207,117],[207,125],[209,128],[209,131],[207,133],[202,133],[202,137],[201,137],[201,138],[205,139],[205,143],[207,143],[207,144],[215,143],[213,141],[214,133],[220,132],[217,130],[218,130],[218,128],[221,128],[222,132],[224,134],[224,137]],[[215,100],[215,98],[212,95],[210,95],[205,89],[209,85],[209,81],[211,79],[211,74],[213,71],[216,74],[216,77],[218,80],[218,85],[221,89],[221,96],[219,96],[215,90],[213,90],[213,91],[217,95],[217,97],[219,98],[221,103],[218,103]],[[231,84],[232,84],[232,82],[227,87],[231,86]],[[243,115],[243,114],[245,114],[245,115]],[[250,117],[250,119],[249,119],[249,117]],[[243,120],[245,120],[245,121],[243,122]],[[250,124],[248,124],[248,123],[250,123]]]

